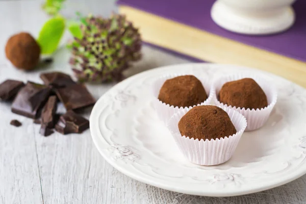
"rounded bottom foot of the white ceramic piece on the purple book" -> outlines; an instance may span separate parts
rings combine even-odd
[[[271,12],[233,8],[216,1],[211,10],[212,19],[220,27],[241,34],[265,35],[285,31],[294,23],[295,15],[291,6],[273,9]]]

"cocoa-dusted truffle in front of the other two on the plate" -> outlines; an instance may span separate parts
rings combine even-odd
[[[182,136],[198,140],[224,138],[237,133],[230,117],[217,106],[196,106],[179,121]]]

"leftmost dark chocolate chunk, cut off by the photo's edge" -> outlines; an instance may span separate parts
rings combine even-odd
[[[0,98],[2,100],[9,100],[15,96],[18,91],[24,86],[23,82],[16,80],[6,80],[0,84]]]

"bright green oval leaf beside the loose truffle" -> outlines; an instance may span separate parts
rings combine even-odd
[[[43,25],[37,42],[41,48],[41,54],[52,54],[57,49],[65,30],[65,19],[57,16],[49,19]]]

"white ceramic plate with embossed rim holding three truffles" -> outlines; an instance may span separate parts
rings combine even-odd
[[[188,162],[152,107],[151,84],[165,73],[209,79],[233,72],[265,75],[277,104],[258,131],[245,132],[230,161],[217,166]],[[234,196],[286,184],[306,173],[306,90],[255,69],[220,64],[182,64],[148,70],[105,93],[90,116],[92,139],[116,169],[163,189],[203,196]]]

